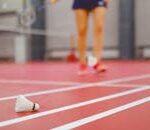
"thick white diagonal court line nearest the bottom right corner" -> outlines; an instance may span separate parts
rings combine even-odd
[[[125,104],[125,105],[122,105],[122,106],[110,109],[108,111],[105,111],[105,112],[102,112],[102,113],[99,113],[99,114],[95,114],[93,116],[89,116],[87,118],[83,118],[81,120],[77,120],[77,121],[74,121],[74,122],[71,122],[71,123],[68,123],[68,124],[65,124],[65,125],[53,128],[51,130],[72,130],[74,128],[77,128],[77,127],[80,127],[82,125],[94,122],[96,120],[100,120],[102,118],[105,118],[105,117],[111,116],[113,114],[116,114],[118,112],[121,112],[121,111],[130,109],[130,108],[136,107],[136,106],[144,104],[146,102],[150,102],[150,97],[146,97],[146,98],[143,98],[143,99],[140,99],[140,100],[136,100],[134,102],[131,102],[131,103],[128,103],[128,104]]]

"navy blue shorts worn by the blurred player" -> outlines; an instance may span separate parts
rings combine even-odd
[[[87,9],[92,10],[96,7],[107,7],[104,0],[74,0],[73,9]]]

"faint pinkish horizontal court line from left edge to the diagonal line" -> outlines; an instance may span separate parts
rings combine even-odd
[[[0,79],[1,84],[36,84],[36,85],[79,85],[79,82],[39,81],[39,80],[7,80]]]

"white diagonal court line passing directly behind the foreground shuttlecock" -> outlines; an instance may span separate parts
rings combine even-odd
[[[119,78],[119,79],[102,81],[102,82],[96,82],[96,83],[86,83],[86,84],[76,85],[76,86],[72,86],[72,87],[65,87],[65,88],[60,88],[60,89],[40,91],[40,92],[35,92],[35,93],[27,93],[27,94],[23,94],[23,95],[31,97],[31,96],[50,94],[50,93],[67,92],[67,91],[72,91],[72,90],[77,90],[77,89],[84,89],[84,88],[90,88],[90,87],[96,87],[96,86],[105,86],[105,85],[108,86],[108,85],[112,85],[112,83],[133,81],[133,80],[144,79],[144,78],[150,78],[150,75],[147,74],[147,75],[125,77],[125,78]],[[15,98],[17,98],[17,96],[18,95],[2,97],[2,98],[0,98],[0,101],[9,100],[9,99],[15,99]]]

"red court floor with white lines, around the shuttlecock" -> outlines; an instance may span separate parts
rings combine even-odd
[[[79,76],[78,63],[0,63],[0,130],[150,130],[150,61],[105,61]],[[18,95],[40,104],[16,113]]]

